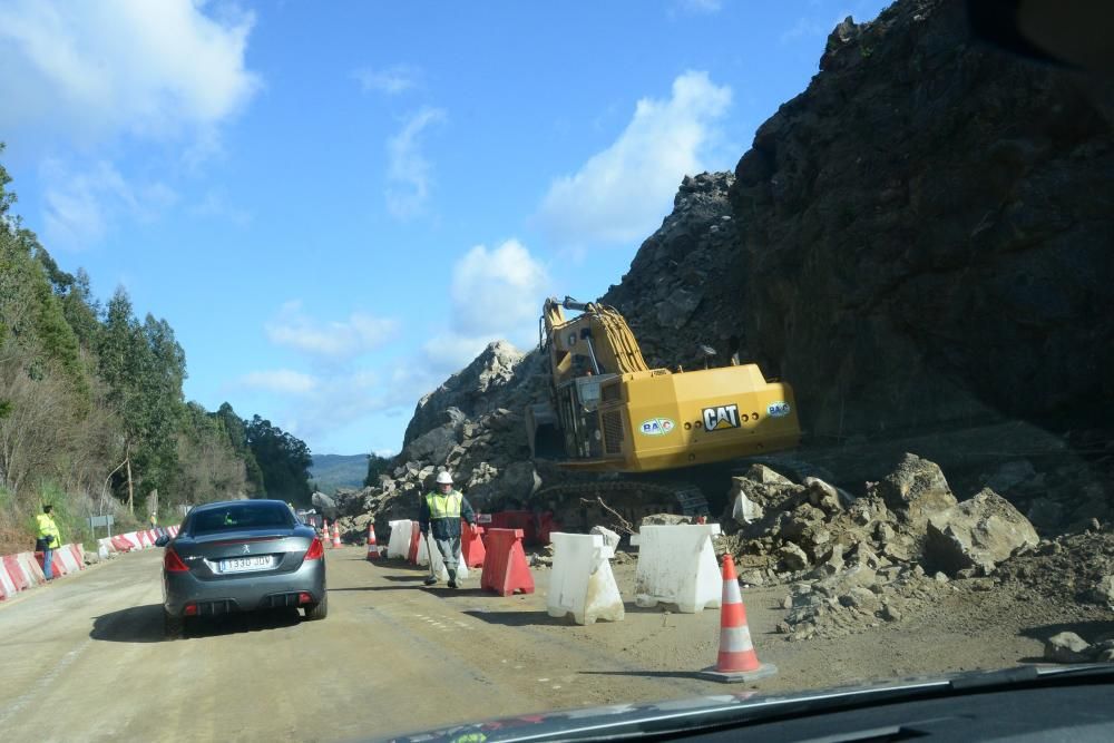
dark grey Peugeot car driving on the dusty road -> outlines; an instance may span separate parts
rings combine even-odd
[[[167,637],[179,636],[189,617],[296,607],[324,619],[329,612],[323,545],[281,500],[197,506],[165,544]]]

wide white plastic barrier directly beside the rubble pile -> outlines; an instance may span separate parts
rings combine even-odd
[[[712,548],[717,534],[719,524],[642,527],[631,537],[631,544],[638,546],[635,604],[676,604],[684,614],[717,608],[723,594]]]

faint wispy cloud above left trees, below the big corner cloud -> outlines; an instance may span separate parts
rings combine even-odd
[[[50,245],[68,250],[99,242],[120,215],[150,222],[178,201],[166,184],[133,184],[106,160],[76,172],[48,159],[39,177],[43,184],[43,235]]]

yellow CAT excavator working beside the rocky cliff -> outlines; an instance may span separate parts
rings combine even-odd
[[[578,312],[569,319],[565,311]],[[654,472],[791,449],[801,429],[792,388],[766,380],[755,364],[693,371],[651,369],[614,307],[566,296],[546,300],[541,351],[548,356],[548,404],[526,411],[535,459],[588,472]],[[711,349],[706,352],[714,353]],[[610,491],[607,510],[632,520],[655,510],[706,512],[698,489],[649,479],[580,481],[546,496]],[[590,495],[590,493],[589,493]],[[596,498],[582,498],[588,504]],[[620,505],[616,505],[620,504]],[[589,515],[585,514],[588,519]]]

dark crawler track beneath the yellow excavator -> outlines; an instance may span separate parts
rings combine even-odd
[[[574,531],[606,526],[633,532],[643,518],[653,514],[692,518],[709,515],[704,493],[688,482],[634,479],[563,482],[541,488],[530,502],[553,511],[563,529]]]

